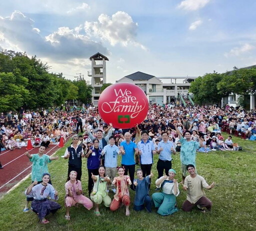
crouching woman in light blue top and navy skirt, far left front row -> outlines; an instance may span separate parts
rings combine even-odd
[[[49,223],[45,216],[50,212],[55,213],[61,206],[55,202],[48,199],[58,199],[58,192],[49,184],[50,175],[49,173],[44,173],[42,175],[42,182],[37,184],[35,180],[25,191],[25,194],[29,197],[33,197],[31,203],[32,210],[37,213],[40,222],[43,224]]]

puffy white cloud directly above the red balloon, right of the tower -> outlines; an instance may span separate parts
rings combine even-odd
[[[117,11],[111,17],[100,14],[98,21],[84,23],[87,34],[108,41],[112,46],[120,43],[123,46],[132,44],[146,49],[135,40],[138,24],[133,22],[131,16],[123,11]]]

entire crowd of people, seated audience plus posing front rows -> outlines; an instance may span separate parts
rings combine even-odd
[[[11,137],[14,137],[13,131],[23,135],[28,128],[30,137],[34,136],[34,142],[38,135],[42,137],[45,132],[46,136],[52,136],[56,140],[61,135],[63,136],[61,131],[63,132],[64,129],[68,132],[66,137],[77,133],[72,136],[72,143],[64,153],[64,158],[68,159],[67,182],[65,183],[65,219],[67,220],[70,219],[70,206],[77,203],[83,204],[87,209],[91,209],[94,204],[94,213],[97,216],[100,215],[99,204],[102,201],[104,206],[109,207],[111,211],[117,210],[123,204],[125,215],[129,215],[129,190],[135,191],[133,209],[136,211],[145,208],[151,212],[153,205],[160,215],[176,212],[179,184],[176,179],[176,170],[173,169],[171,162],[171,156],[176,154],[176,151],[180,152],[182,174],[180,184],[183,190],[187,191],[187,198],[182,204],[182,209],[191,211],[193,207],[197,207],[202,212],[210,211],[211,201],[205,196],[203,188],[211,189],[214,187],[214,182],[209,185],[202,176],[197,174],[196,151],[236,150],[234,147],[237,145],[232,143],[231,135],[223,141],[224,137],[221,134],[223,126],[230,127],[231,132],[235,129],[246,133],[245,128],[249,125],[252,129],[247,129],[250,131],[246,134],[248,138],[256,133],[255,109],[246,113],[245,110],[228,106],[225,108],[217,106],[184,108],[153,104],[150,105],[147,117],[141,124],[122,130],[113,128],[112,124],[105,124],[94,106],[72,112],[34,112],[26,120],[23,117],[12,118],[10,111],[5,119],[1,127],[3,147],[7,145],[3,136],[8,136],[10,139],[10,131],[7,134],[6,130],[11,130]],[[52,133],[47,133],[46,130]],[[57,135],[56,130],[59,130]],[[78,135],[79,131],[80,135]],[[25,138],[28,138],[28,135],[20,138],[21,142],[25,141]],[[50,143],[52,140],[47,141]],[[56,202],[50,203],[51,200],[48,200],[48,196],[51,199],[57,199],[57,192],[50,184],[46,167],[48,162],[57,157],[45,157],[43,151],[49,143],[41,139],[38,143],[40,145],[38,154],[26,153],[33,162],[32,184],[27,188],[26,195],[27,201],[33,201],[32,210],[38,214],[40,221],[48,223],[45,216],[60,208]],[[154,154],[158,154],[156,192],[150,197],[149,188],[153,179],[151,168]],[[121,155],[121,166],[117,166],[118,155]],[[41,158],[44,159],[41,161],[43,164],[38,164]],[[82,158],[87,159],[88,197],[84,195],[81,186]],[[136,164],[140,167],[135,171]],[[134,174],[136,174],[135,178]],[[112,200],[108,195],[110,190],[114,193]],[[28,209],[26,202],[23,211],[28,211]]]

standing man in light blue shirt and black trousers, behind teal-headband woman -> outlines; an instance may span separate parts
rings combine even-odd
[[[158,143],[156,152],[159,154],[159,159],[156,165],[158,172],[157,178],[160,178],[163,175],[163,170],[165,170],[165,174],[168,175],[168,170],[171,169],[171,152],[176,154],[176,151],[173,148],[173,143],[168,140],[166,131],[162,132],[162,140]]]

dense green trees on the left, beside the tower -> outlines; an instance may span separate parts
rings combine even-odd
[[[87,103],[91,86],[49,72],[47,63],[25,52],[0,51],[0,111],[58,106],[67,100]]]

